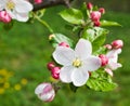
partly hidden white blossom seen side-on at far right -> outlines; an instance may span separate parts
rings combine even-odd
[[[121,49],[114,49],[106,54],[106,56],[108,57],[108,64],[105,68],[105,71],[108,72],[110,76],[113,76],[112,70],[116,70],[117,68],[121,67],[121,64],[117,63],[118,54],[120,53],[121,53]]]

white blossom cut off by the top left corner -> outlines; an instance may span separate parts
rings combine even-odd
[[[32,5],[27,0],[0,0],[0,11],[2,10],[5,10],[13,19],[26,22]]]

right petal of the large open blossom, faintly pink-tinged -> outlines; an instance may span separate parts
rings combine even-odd
[[[89,56],[83,61],[82,67],[89,71],[96,70],[101,67],[101,59],[98,56]]]

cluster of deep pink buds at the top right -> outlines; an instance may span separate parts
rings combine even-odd
[[[93,4],[91,2],[89,2],[87,4],[88,10],[90,11],[90,18],[93,22],[94,26],[100,26],[100,18],[102,16],[102,14],[105,13],[105,9],[104,8],[100,8],[98,11],[92,11],[93,9]]]

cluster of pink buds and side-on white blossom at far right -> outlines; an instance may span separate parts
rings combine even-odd
[[[113,76],[113,71],[118,67],[121,67],[121,64],[117,63],[118,54],[121,53],[121,48],[123,47],[122,40],[115,40],[112,44],[106,44],[105,48],[109,50],[106,55],[100,54],[99,57],[101,58],[102,66],[105,66],[105,71]]]

